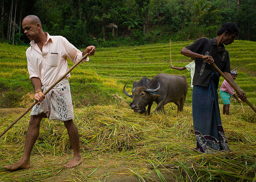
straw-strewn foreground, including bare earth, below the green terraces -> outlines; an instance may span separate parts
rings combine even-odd
[[[167,104],[166,115],[144,116],[117,105],[75,110],[83,163],[63,165],[72,147],[61,122],[43,119],[31,155],[31,167],[6,171],[19,160],[28,127],[23,117],[1,138],[0,181],[253,181],[256,166],[256,116],[245,106],[231,107],[222,124],[231,152],[200,154],[193,151],[192,108],[176,112]],[[3,131],[19,115],[0,118]],[[160,179],[159,179],[160,178]]]

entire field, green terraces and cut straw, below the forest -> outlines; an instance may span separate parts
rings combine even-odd
[[[189,43],[172,43],[174,66],[189,63],[179,53]],[[256,43],[236,41],[226,49],[231,69],[238,71],[236,83],[255,105]],[[25,51],[26,47],[0,44],[0,107],[11,108],[0,115],[1,132],[18,118],[15,108],[33,102]],[[193,150],[192,88],[181,113],[173,103],[166,104],[166,115],[144,116],[129,108],[131,99],[123,94],[123,86],[127,83],[131,92],[132,82],[142,76],[184,74],[190,85],[190,72],[170,69],[169,51],[169,44],[97,48],[90,62],[75,68],[69,79],[83,162],[72,169],[63,167],[73,153],[67,130],[62,122],[43,119],[31,167],[6,171],[3,166],[22,156],[28,113],[0,138],[0,181],[256,181],[256,115],[246,103],[243,113],[232,100],[231,115],[221,115],[231,152],[215,154]],[[221,100],[219,104],[221,108]]]

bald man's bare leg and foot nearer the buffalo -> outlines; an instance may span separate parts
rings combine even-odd
[[[64,121],[64,124],[68,130],[68,136],[74,149],[74,157],[66,165],[64,165],[64,167],[71,168],[78,166],[82,162],[79,146],[79,135],[73,119]]]

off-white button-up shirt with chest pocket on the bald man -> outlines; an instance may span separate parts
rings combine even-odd
[[[47,41],[42,51],[34,40],[30,45],[26,51],[29,78],[39,78],[43,86],[52,85],[69,70],[67,58],[76,63],[83,57],[82,52],[62,36],[50,36],[47,33]],[[88,57],[83,60],[88,61]],[[70,74],[65,78],[69,77]]]

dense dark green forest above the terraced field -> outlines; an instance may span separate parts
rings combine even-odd
[[[22,45],[21,21],[30,14],[44,31],[76,47],[136,46],[215,37],[237,23],[240,40],[256,41],[256,0],[1,0],[1,41]]]

